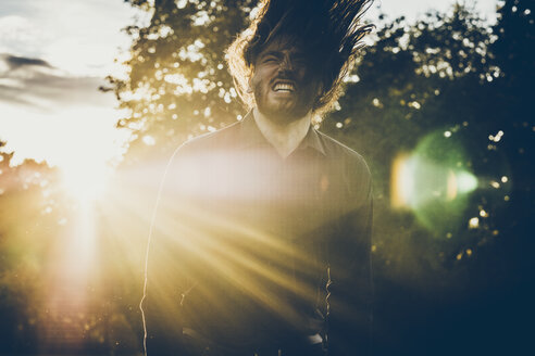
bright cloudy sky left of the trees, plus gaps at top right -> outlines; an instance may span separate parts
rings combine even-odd
[[[409,20],[447,11],[453,0],[376,0],[366,16]],[[471,2],[472,3],[472,2]],[[497,0],[475,8],[492,23]],[[24,158],[63,169],[97,169],[116,158],[127,135],[112,93],[97,90],[128,49],[121,31],[147,15],[123,0],[0,1],[0,140]]]

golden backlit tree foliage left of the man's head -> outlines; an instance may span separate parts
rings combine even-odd
[[[225,50],[245,27],[256,4],[239,1],[130,1],[152,13],[146,27],[129,26],[133,38],[125,80],[109,77],[121,107],[119,122],[136,132],[128,156],[145,143],[167,152],[190,135],[215,130],[242,114],[225,64]]]

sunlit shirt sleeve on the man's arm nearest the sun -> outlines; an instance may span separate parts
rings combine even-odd
[[[174,155],[161,179],[148,242],[142,312],[149,356],[184,354],[181,314],[188,288],[184,269],[187,196],[182,193],[184,167],[179,162]]]

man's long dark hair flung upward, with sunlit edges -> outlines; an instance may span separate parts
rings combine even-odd
[[[296,40],[322,72],[323,90],[315,99],[315,115],[328,112],[341,94],[341,82],[354,55],[364,46],[362,38],[373,25],[362,25],[373,0],[261,0],[258,15],[227,49],[228,68],[237,92],[250,109],[247,92],[258,54],[273,39]]]

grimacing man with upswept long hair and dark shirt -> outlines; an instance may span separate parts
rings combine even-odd
[[[148,355],[362,355],[369,169],[316,131],[369,1],[264,1],[228,50],[251,111],[170,161],[147,260]],[[145,303],[146,302],[146,303]]]

